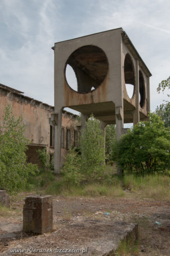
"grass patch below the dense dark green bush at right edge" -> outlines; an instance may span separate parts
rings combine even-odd
[[[123,183],[125,189],[130,188],[133,192],[140,192],[141,198],[170,199],[170,177],[168,175],[152,174],[144,177],[124,175]]]

